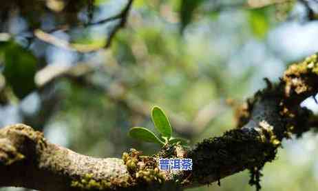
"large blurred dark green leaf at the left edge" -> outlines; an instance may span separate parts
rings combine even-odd
[[[1,43],[0,54],[3,58],[3,76],[14,94],[23,99],[35,90],[36,57],[14,41]]]

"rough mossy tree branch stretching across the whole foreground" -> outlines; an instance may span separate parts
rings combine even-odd
[[[123,159],[96,159],[48,143],[41,132],[27,125],[8,126],[0,130],[0,187],[183,190],[246,169],[257,173],[275,159],[282,139],[291,134],[299,137],[317,124],[315,116],[299,106],[318,91],[317,54],[291,65],[279,83],[267,82],[267,88],[241,108],[237,128],[221,137],[205,139],[194,148],[165,145],[151,157],[132,149],[123,153]],[[191,158],[193,170],[160,172],[160,157]]]

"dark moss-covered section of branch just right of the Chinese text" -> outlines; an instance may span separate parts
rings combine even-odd
[[[204,139],[189,152],[193,161],[192,181],[209,183],[264,165],[275,159],[276,152],[277,147],[270,141],[260,141],[259,133],[251,129],[235,129],[222,137]]]

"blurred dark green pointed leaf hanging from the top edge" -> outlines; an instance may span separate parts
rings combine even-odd
[[[181,0],[180,5],[180,21],[181,21],[181,32],[191,22],[193,12],[203,0]]]

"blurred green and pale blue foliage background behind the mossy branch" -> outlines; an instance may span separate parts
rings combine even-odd
[[[127,0],[3,1],[0,126],[26,123],[94,157],[153,154],[157,145],[127,132],[153,128],[150,109],[160,105],[192,145],[219,136],[265,77],[278,81],[318,50],[317,11],[315,0],[135,0],[130,9]],[[303,105],[318,111],[312,98]],[[313,132],[284,141],[262,190],[317,190],[317,143]],[[189,190],[255,190],[248,179]]]

